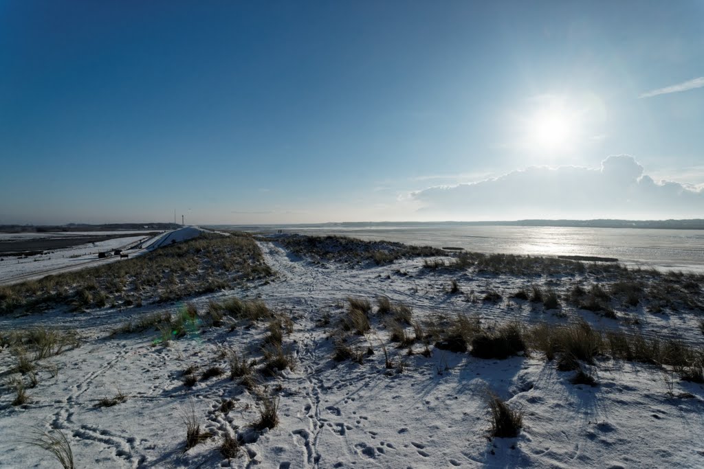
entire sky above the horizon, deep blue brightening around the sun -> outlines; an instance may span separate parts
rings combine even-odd
[[[0,1],[0,224],[704,217],[703,23],[685,0]],[[591,184],[556,207],[571,167]]]

